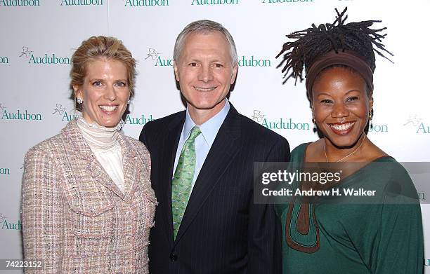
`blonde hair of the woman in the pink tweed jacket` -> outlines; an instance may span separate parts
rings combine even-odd
[[[72,69],[70,70],[70,90],[76,109],[82,111],[82,104],[77,104],[73,86],[84,85],[86,65],[99,59],[122,62],[127,69],[127,81],[130,96],[134,94],[136,79],[136,60],[127,50],[121,40],[109,36],[92,36],[82,41],[81,46],[72,55]]]

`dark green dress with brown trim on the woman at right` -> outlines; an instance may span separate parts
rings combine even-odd
[[[294,170],[303,164],[306,145],[291,153]],[[320,200],[303,207],[297,198],[294,205],[276,206],[282,224],[283,273],[423,273],[422,217],[415,186],[393,158],[386,156],[373,163],[389,164],[384,168],[365,165],[336,187],[375,189],[372,199],[377,203]],[[399,186],[400,190],[396,189]],[[308,208],[309,213],[299,216],[300,207]],[[304,216],[308,218],[306,232],[297,226],[299,217]]]

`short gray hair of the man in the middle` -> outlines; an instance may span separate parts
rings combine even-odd
[[[198,20],[192,22],[186,26],[182,32],[178,35],[175,42],[174,48],[174,60],[178,62],[179,55],[181,55],[181,51],[183,49],[183,43],[185,42],[185,37],[190,33],[200,33],[200,34],[210,34],[212,32],[221,32],[226,36],[228,44],[230,44],[230,56],[233,67],[237,64],[237,51],[235,41],[233,40],[233,36],[231,36],[230,32],[223,27],[220,23],[211,21],[211,20]]]

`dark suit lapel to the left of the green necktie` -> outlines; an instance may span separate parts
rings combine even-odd
[[[171,123],[168,125],[169,131],[167,137],[162,144],[162,160],[159,170],[159,181],[157,188],[157,199],[159,199],[159,206],[162,207],[161,212],[164,212],[162,218],[164,219],[164,227],[166,228],[167,239],[170,246],[173,246],[173,217],[171,214],[171,179],[173,174],[176,150],[178,148],[179,137],[183,123],[185,122],[185,111],[181,112]]]

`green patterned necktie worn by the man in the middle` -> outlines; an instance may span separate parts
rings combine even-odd
[[[179,226],[183,218],[183,213],[190,198],[191,186],[193,184],[195,170],[195,144],[194,140],[202,133],[200,128],[195,125],[191,129],[190,137],[183,144],[181,156],[174,178],[171,181],[171,214],[173,215],[174,239],[178,234]]]

